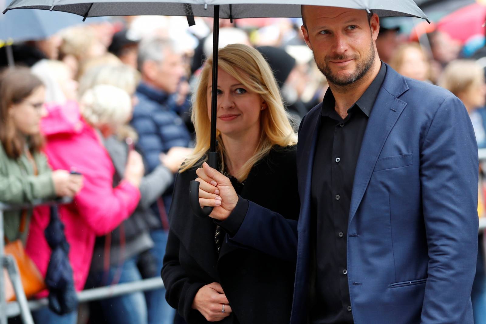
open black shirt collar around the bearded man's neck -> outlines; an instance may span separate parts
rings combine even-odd
[[[386,64],[382,62],[382,66],[380,68],[380,72],[378,72],[377,76],[371,82],[368,89],[364,91],[363,95],[356,101],[355,105],[358,106],[364,114],[369,117],[371,114],[371,109],[375,105],[376,97],[378,96],[378,92],[382,87],[383,80],[385,79],[386,75]],[[334,95],[330,88],[326,91],[324,95],[324,100],[322,102],[322,116],[329,117],[331,111],[334,111],[334,104],[335,104]],[[354,106],[354,105],[353,105]]]

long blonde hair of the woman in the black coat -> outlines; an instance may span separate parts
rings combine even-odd
[[[255,154],[243,164],[238,174],[233,175],[241,182],[248,177],[253,165],[267,155],[274,145],[282,147],[294,145],[297,143],[297,136],[283,106],[277,81],[260,52],[243,44],[227,45],[219,50],[218,67],[241,82],[251,92],[259,94],[267,104],[267,108],[260,113],[261,139]],[[184,172],[207,160],[206,152],[209,150],[210,141],[208,81],[211,71],[212,58],[208,58],[192,96],[191,120],[196,131],[196,145],[193,154],[184,162],[179,172]],[[217,150],[223,162],[220,171],[223,172],[226,153],[219,130],[216,130],[216,137],[219,143]]]

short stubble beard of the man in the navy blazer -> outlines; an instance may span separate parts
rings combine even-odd
[[[355,56],[346,56],[346,55],[337,55],[332,58],[331,60],[344,60],[347,58],[354,58],[356,59]],[[337,87],[342,87],[342,88],[348,88],[352,87],[355,85],[356,82],[360,81],[366,73],[371,69],[373,64],[375,63],[376,59],[376,52],[375,52],[375,46],[373,44],[373,40],[371,41],[370,44],[370,49],[367,57],[363,62],[359,62],[358,65],[356,66],[356,70],[352,72],[350,75],[344,76],[344,77],[338,77],[334,73],[332,73],[331,69],[329,66],[326,64],[324,58],[324,62],[317,62],[315,59],[315,54],[314,54],[314,61],[315,64],[317,65],[317,68],[321,73],[326,77],[328,80],[328,83],[337,86]]]

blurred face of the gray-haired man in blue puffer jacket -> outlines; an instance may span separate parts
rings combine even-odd
[[[163,61],[146,61],[143,73],[157,88],[174,93],[185,74],[184,60],[181,54],[166,51]]]

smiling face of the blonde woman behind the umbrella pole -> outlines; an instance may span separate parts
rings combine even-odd
[[[212,75],[208,81],[208,116],[211,118]],[[216,127],[226,136],[260,132],[260,112],[266,104],[260,95],[222,69],[218,69],[218,104]]]

